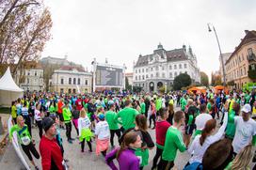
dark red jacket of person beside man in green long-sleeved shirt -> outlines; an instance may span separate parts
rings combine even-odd
[[[155,123],[155,136],[157,145],[165,146],[168,127],[170,127],[170,124],[166,120],[157,121]]]

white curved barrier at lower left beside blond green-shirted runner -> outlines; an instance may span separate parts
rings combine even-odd
[[[10,128],[12,127],[12,122],[11,122],[11,116],[9,116],[8,118],[8,131],[10,131]],[[23,155],[23,152],[22,152],[22,149],[19,145],[19,142],[18,142],[18,136],[17,136],[17,132],[13,132],[13,137],[12,137],[12,141],[11,141],[11,144],[12,146],[14,147],[15,149],[15,152],[16,154],[18,155],[18,157],[20,158],[21,162],[23,162],[24,164],[24,167],[27,169],[27,170],[30,170],[30,167],[28,165],[28,163],[25,161],[24,159],[24,155]]]

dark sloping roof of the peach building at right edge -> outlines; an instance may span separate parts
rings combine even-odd
[[[235,55],[241,48],[243,45],[251,42],[251,41],[256,41],[256,31],[252,30],[252,31],[248,31],[246,30],[246,36],[244,37],[244,39],[242,39],[242,41],[239,43],[238,47],[235,48],[235,50],[233,51],[232,55],[230,56],[230,58],[226,61],[225,64],[227,64],[233,55]]]

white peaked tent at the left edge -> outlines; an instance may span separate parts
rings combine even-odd
[[[22,98],[23,94],[24,90],[15,84],[8,68],[0,79],[0,106],[10,106],[12,100]]]

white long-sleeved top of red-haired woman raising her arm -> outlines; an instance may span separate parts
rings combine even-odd
[[[227,124],[228,124],[228,112],[225,113],[223,124],[219,128],[219,130],[216,132],[216,134],[206,137],[202,146],[200,145],[200,136],[201,135],[197,135],[195,137],[191,146],[187,150],[189,154],[193,154],[193,156],[189,159],[190,164],[193,162],[201,162],[202,161],[202,157],[203,157],[203,154],[206,151],[206,149],[209,146],[211,146],[213,143],[218,141],[223,136],[224,131],[227,127]]]

